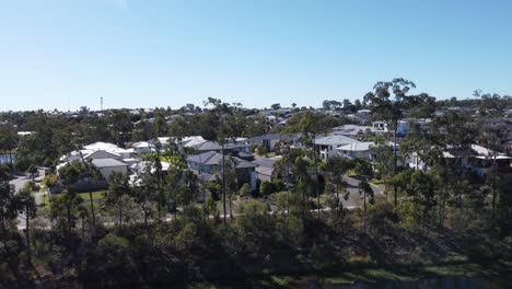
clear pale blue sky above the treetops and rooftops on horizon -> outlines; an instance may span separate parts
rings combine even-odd
[[[512,2],[0,0],[0,111],[512,94]]]

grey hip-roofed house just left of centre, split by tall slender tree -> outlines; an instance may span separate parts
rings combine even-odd
[[[224,157],[224,161],[230,157]],[[256,189],[257,164],[231,157],[235,163],[236,181],[238,186],[247,183],[252,189]],[[187,158],[188,169],[206,182],[216,181],[222,172],[222,154],[217,151],[208,151]]]

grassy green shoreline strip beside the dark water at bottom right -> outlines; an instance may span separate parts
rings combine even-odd
[[[395,264],[377,266],[372,264],[345,265],[339,268],[312,274],[269,274],[246,279],[212,282],[196,282],[186,288],[243,288],[258,284],[257,288],[311,288],[312,285],[350,286],[359,282],[379,285],[383,282],[415,282],[429,278],[461,277],[493,281],[512,277],[512,261],[489,263],[453,262],[444,264]]]

